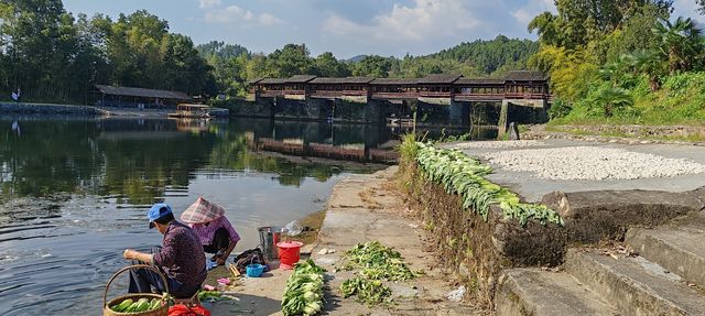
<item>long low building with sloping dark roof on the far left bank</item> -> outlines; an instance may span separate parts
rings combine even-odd
[[[135,109],[175,108],[177,103],[191,101],[182,91],[167,91],[131,87],[94,86],[95,105]]]

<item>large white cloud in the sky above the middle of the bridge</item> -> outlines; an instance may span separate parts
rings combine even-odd
[[[336,35],[371,37],[390,42],[422,42],[433,37],[462,37],[480,25],[462,0],[415,0],[410,7],[394,4],[391,12],[371,23],[355,23],[330,13],[324,31]]]

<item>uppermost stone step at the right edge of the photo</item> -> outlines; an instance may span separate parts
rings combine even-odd
[[[634,228],[625,239],[641,257],[701,286],[705,285],[704,240],[705,226]]]

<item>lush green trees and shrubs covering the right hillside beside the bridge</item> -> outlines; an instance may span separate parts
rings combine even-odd
[[[705,13],[705,1],[697,0]],[[705,120],[705,37],[671,0],[560,0],[529,24],[551,75],[552,119],[633,123]]]

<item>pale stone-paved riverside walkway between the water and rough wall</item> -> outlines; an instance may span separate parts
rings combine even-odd
[[[445,297],[446,293],[457,288],[457,284],[438,265],[437,254],[429,248],[429,237],[422,224],[409,216],[402,198],[392,189],[395,170],[391,167],[372,175],[354,175],[340,181],[328,200],[317,239],[302,250],[310,252],[315,262],[327,270],[325,315],[482,314],[478,308]],[[319,218],[318,215],[314,215],[312,220],[316,218]],[[306,220],[302,220],[304,222]],[[413,281],[390,283],[394,303],[369,308],[354,298],[341,297],[339,286],[352,276],[352,272],[339,271],[339,266],[346,249],[373,240],[398,250],[411,269],[422,270],[424,275]],[[321,252],[323,249],[328,251]],[[335,252],[329,253],[330,250]],[[237,301],[204,304],[213,315],[281,315],[279,304],[290,275],[291,271],[274,269],[263,277],[242,277],[240,285],[229,293]]]

